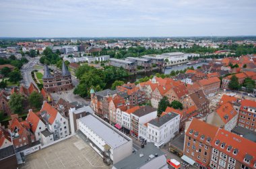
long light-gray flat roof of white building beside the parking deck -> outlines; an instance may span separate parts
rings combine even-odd
[[[111,148],[118,148],[119,146],[122,146],[123,144],[126,144],[130,141],[121,135],[121,133],[117,133],[114,127],[108,123],[100,121],[93,115],[82,117],[79,119],[79,121],[94,131],[94,133],[101,137],[104,142],[106,142],[106,144],[108,144],[108,146]]]

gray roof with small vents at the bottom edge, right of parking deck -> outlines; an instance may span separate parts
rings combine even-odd
[[[155,154],[157,154],[158,157],[155,157]],[[127,158],[114,164],[113,168],[162,168],[163,166],[166,166],[166,157],[164,156],[164,153],[156,148],[154,144],[148,143],[145,145],[145,148],[139,149]]]

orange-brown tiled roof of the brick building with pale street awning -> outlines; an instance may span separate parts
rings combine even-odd
[[[189,133],[189,131],[193,131],[193,133],[191,134]],[[191,136],[195,139],[200,139],[201,135],[204,135],[204,139],[200,139],[200,142],[209,145],[212,143],[212,140],[214,139],[217,131],[218,127],[200,121],[199,119],[193,118],[189,125],[189,128],[186,131],[186,135]],[[198,133],[198,136],[195,136],[196,132]],[[206,142],[208,137],[210,137],[210,143]]]

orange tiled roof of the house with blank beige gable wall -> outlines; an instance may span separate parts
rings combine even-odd
[[[216,113],[218,113],[224,123],[228,123],[228,121],[237,115],[236,110],[229,102],[221,105],[218,109],[216,109]]]

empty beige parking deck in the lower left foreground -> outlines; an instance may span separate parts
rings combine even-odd
[[[20,168],[110,168],[78,135],[26,156]]]

